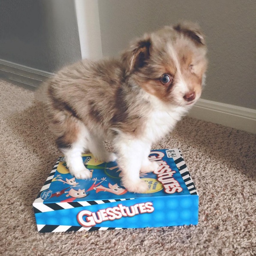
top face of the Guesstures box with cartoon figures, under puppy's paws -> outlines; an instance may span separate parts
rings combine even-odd
[[[91,172],[90,180],[75,179],[60,157],[45,181],[34,203],[87,202],[125,200],[138,197],[197,195],[181,151],[152,150],[149,159],[159,165],[157,171],[141,174],[148,183],[146,193],[130,193],[120,184],[120,169],[116,162],[99,162],[92,154],[83,154],[84,165]]]

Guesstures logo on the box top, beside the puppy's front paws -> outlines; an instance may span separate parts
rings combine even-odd
[[[149,160],[155,161],[159,165],[154,173],[157,175],[157,180],[163,184],[164,191],[168,194],[180,193],[183,189],[178,181],[172,177],[176,172],[170,168],[166,161],[163,161],[165,154],[159,151],[153,151],[151,154],[154,155],[150,156]]]

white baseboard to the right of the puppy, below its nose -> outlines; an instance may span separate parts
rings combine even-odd
[[[255,109],[199,99],[188,115],[193,118],[219,123],[249,133],[256,133]]]

